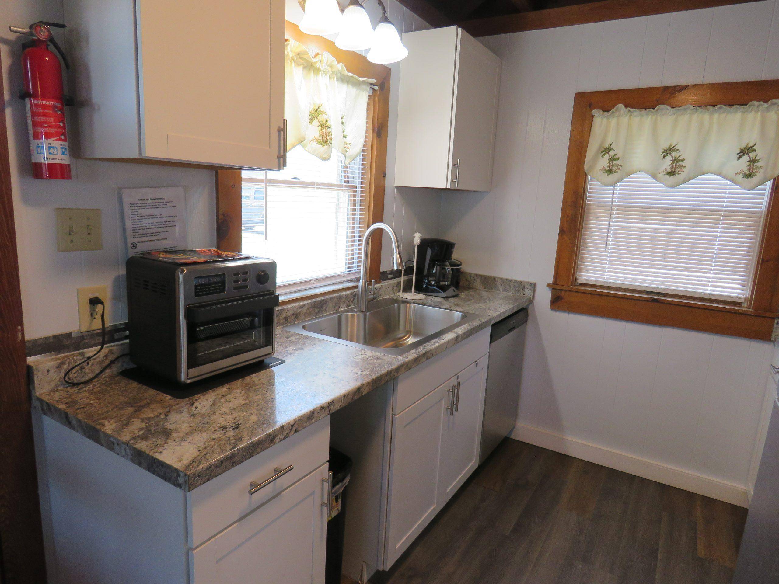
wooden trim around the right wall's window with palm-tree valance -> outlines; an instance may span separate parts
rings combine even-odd
[[[779,317],[779,180],[767,202],[767,216],[758,250],[753,289],[745,304],[693,300],[688,297],[644,294],[590,284],[576,284],[576,261],[584,223],[587,174],[584,158],[590,141],[592,111],[617,105],[648,109],[742,105],[779,98],[779,80],[703,83],[630,90],[576,93],[562,195],[557,255],[550,308],[583,315],[619,318],[650,325],[675,326],[747,339],[770,340]]]

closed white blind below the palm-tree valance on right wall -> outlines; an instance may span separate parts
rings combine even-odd
[[[576,281],[743,302],[771,182],[745,191],[715,174],[668,188],[639,172],[587,178]]]

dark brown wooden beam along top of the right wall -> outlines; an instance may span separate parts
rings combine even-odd
[[[521,0],[517,0],[521,2]],[[523,30],[538,30],[572,26],[574,24],[600,23],[606,20],[650,16],[666,12],[682,12],[724,6],[746,4],[758,0],[604,0],[576,4],[508,16],[492,16],[466,20],[458,23],[474,37],[488,37],[493,34],[519,33]],[[512,0],[514,2],[514,0]]]

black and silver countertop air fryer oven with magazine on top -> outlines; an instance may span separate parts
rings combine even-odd
[[[130,360],[189,383],[275,350],[276,262],[127,260]]]

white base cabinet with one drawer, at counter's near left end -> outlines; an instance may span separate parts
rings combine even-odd
[[[324,584],[330,417],[185,492],[35,414],[50,584]]]

